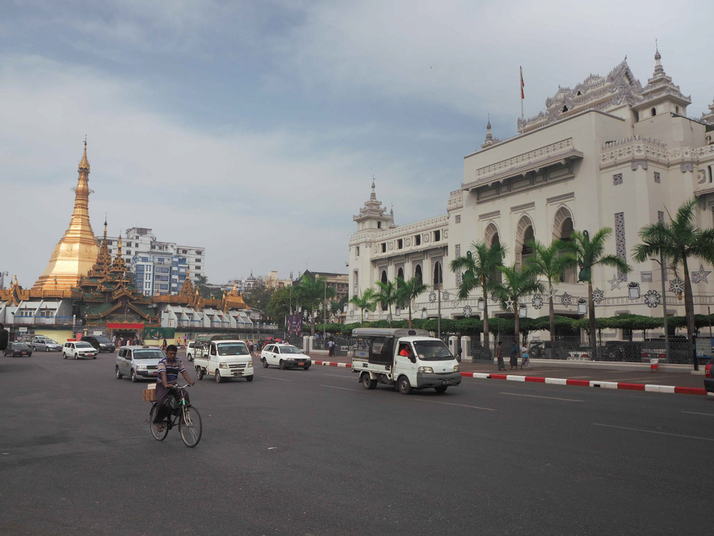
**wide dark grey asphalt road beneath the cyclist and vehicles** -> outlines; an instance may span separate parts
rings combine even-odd
[[[257,363],[256,363],[257,364]],[[114,356],[0,358],[0,533],[709,532],[714,399],[337,367],[197,382],[203,439],[154,441]]]

